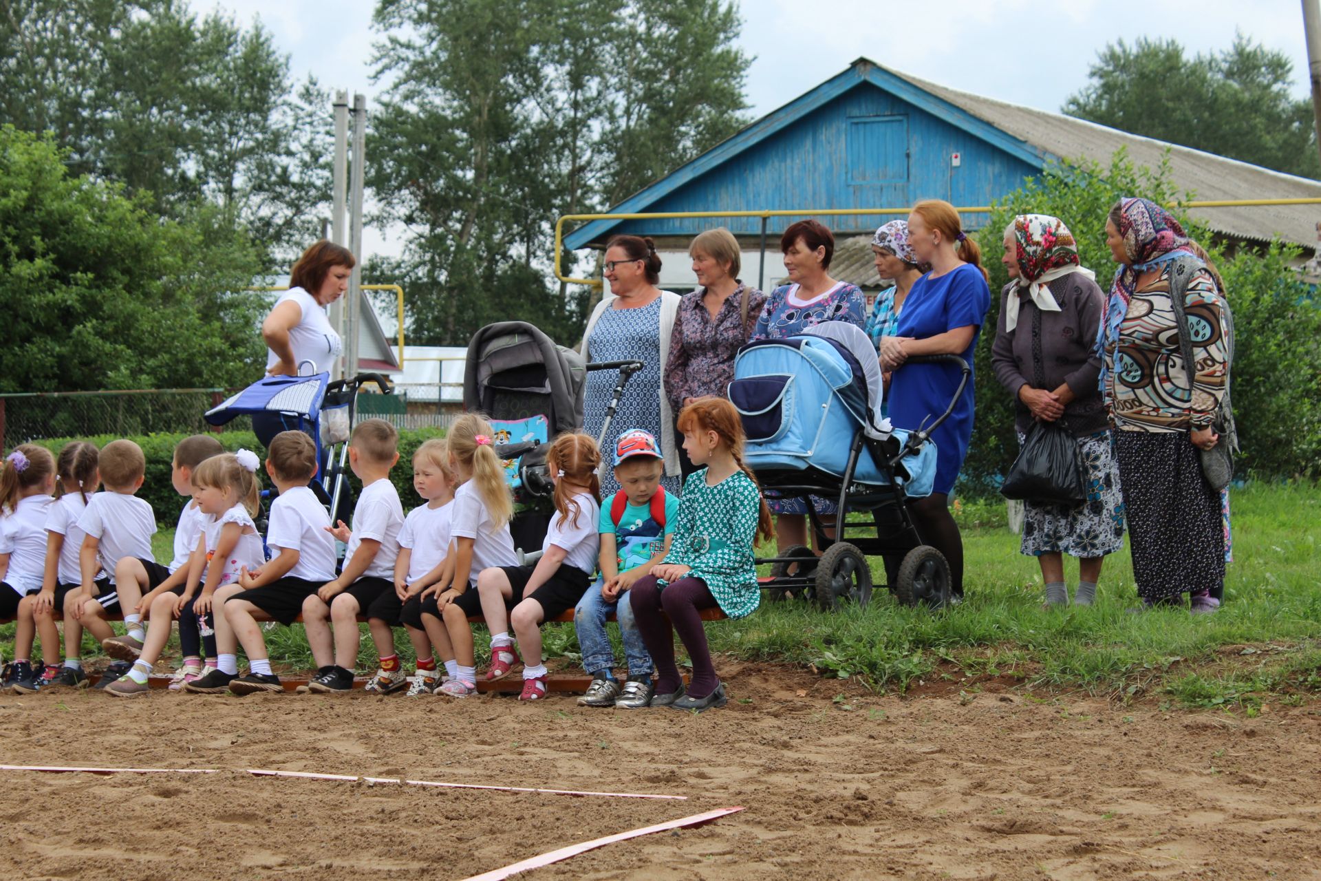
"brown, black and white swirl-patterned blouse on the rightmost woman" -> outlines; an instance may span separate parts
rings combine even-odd
[[[1169,264],[1160,277],[1133,292],[1119,325],[1119,339],[1106,353],[1110,400],[1122,431],[1185,432],[1210,424],[1225,394],[1225,317],[1221,295],[1206,271],[1189,279],[1185,312],[1193,334],[1197,370],[1193,382],[1178,346],[1178,322],[1169,301]],[[1189,390],[1192,386],[1192,390]]]

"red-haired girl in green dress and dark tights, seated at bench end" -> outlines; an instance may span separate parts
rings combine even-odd
[[[697,470],[684,483],[670,552],[638,579],[629,601],[657,667],[650,705],[700,712],[728,700],[701,610],[719,606],[741,618],[757,608],[753,544],[770,539],[774,526],[757,478],[742,461],[744,431],[733,404],[724,398],[694,402],[679,413],[679,431]],[[675,631],[692,659],[687,693],[675,663]]]

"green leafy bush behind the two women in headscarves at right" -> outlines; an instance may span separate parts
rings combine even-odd
[[[978,234],[983,263],[991,272],[991,312],[983,325],[976,354],[978,417],[972,431],[960,490],[993,494],[1018,442],[1013,429],[1013,402],[996,380],[991,346],[1000,317],[1000,291],[1008,284],[1000,255],[1003,235],[1017,214],[1061,218],[1078,242],[1082,265],[1096,273],[1102,291],[1110,289],[1115,263],[1106,246],[1106,217],[1120,197],[1144,195],[1161,203],[1186,202],[1170,184],[1169,162],[1156,169],[1135,166],[1123,151],[1108,168],[1087,160],[1049,166],[1037,178],[995,203],[989,222]],[[1281,477],[1314,473],[1321,461],[1321,309],[1308,297],[1289,262],[1296,250],[1279,243],[1264,248],[1239,247],[1226,258],[1222,243],[1205,225],[1180,207],[1172,213],[1210,252],[1225,280],[1235,320],[1238,347],[1232,365],[1232,398],[1243,456],[1243,473]]]

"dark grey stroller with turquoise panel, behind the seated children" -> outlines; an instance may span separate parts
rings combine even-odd
[[[620,371],[597,439],[601,445],[629,376],[642,370],[641,361],[584,363],[577,351],[555,345],[523,321],[486,325],[468,343],[464,409],[486,413],[495,428],[495,454],[505,462],[517,503],[510,532],[518,548],[542,547],[555,489],[546,469],[548,442],[583,428],[587,374],[594,370]]]

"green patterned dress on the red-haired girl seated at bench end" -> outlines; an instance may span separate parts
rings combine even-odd
[[[761,493],[742,472],[707,486],[707,469],[699,469],[679,497],[664,561],[690,567],[731,618],[750,614],[761,602],[752,552],[760,512]]]

